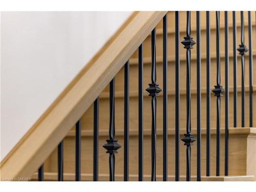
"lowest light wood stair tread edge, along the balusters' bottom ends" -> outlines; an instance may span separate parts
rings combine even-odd
[[[44,175],[46,181],[57,181],[57,173],[45,173]],[[157,175],[157,181],[162,181],[162,175]],[[81,181],[92,181],[92,174],[81,174]],[[138,181],[138,175],[130,174],[130,181]],[[151,175],[144,175],[144,181],[150,181]],[[34,181],[37,180],[37,174],[33,174],[32,179]],[[65,181],[74,181],[75,174],[74,173],[65,173],[64,174]],[[202,181],[253,181],[254,176],[202,176]],[[109,181],[109,174],[99,174],[99,181]],[[115,181],[123,181],[123,175],[116,174]],[[175,181],[175,176],[168,175],[168,181]],[[186,176],[181,175],[180,181],[186,181]],[[197,176],[191,176],[191,181],[197,181]]]

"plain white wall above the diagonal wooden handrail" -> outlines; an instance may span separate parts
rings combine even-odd
[[[130,15],[1,13],[1,160]]]

